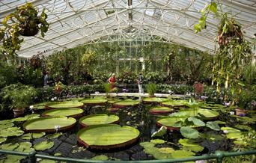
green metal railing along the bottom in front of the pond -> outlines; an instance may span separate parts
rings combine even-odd
[[[143,160],[143,161],[99,161],[99,160],[91,160],[91,159],[72,159],[72,158],[60,157],[60,156],[41,155],[41,154],[37,154],[35,151],[33,151],[31,153],[22,153],[22,152],[13,151],[13,150],[0,150],[0,153],[7,154],[7,155],[26,156],[26,157],[28,157],[28,159],[31,163],[36,162],[37,159],[49,159],[49,160],[60,161],[60,162],[83,162],[83,163],[98,163],[98,162],[169,163],[169,162],[191,162],[191,161],[196,161],[196,160],[216,159],[218,163],[221,163],[225,157],[253,155],[253,154],[256,154],[256,150],[234,152],[234,153],[228,153],[228,152],[224,152],[224,151],[216,151],[216,153],[207,155],[207,156],[193,156],[193,157],[184,158],[184,159],[162,159],[162,160]]]

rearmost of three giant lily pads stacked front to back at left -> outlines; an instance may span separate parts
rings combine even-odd
[[[82,108],[84,104],[77,101],[50,102],[46,104],[46,108]]]

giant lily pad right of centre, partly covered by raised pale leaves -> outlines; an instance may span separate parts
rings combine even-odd
[[[180,130],[180,127],[174,126],[174,124],[185,119],[186,117],[161,117],[156,120],[156,125],[165,126],[169,130]]]

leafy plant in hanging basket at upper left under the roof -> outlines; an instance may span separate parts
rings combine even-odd
[[[46,22],[47,15],[45,8],[40,15],[38,15],[37,8],[33,4],[26,3],[20,7],[16,7],[16,11],[7,15],[1,24],[0,41],[3,42],[4,49],[10,55],[13,55],[16,50],[20,49],[22,36],[34,36],[41,31],[42,37],[48,31],[49,23]]]

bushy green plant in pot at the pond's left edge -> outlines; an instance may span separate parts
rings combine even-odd
[[[5,102],[10,102],[15,117],[24,114],[25,108],[32,102],[36,95],[34,87],[25,84],[10,84],[1,90]]]

